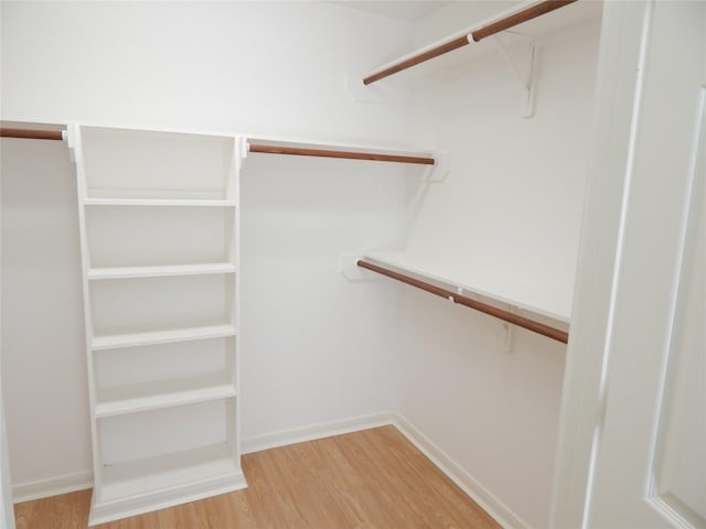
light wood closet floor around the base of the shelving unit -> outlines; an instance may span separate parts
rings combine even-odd
[[[245,455],[248,488],[100,529],[346,529],[500,526],[394,427]],[[90,490],[18,504],[18,529],[85,528]]]

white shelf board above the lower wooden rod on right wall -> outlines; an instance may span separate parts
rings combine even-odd
[[[472,263],[460,263],[453,259],[404,251],[367,251],[364,259],[421,280],[443,283],[449,285],[449,290],[462,289],[466,295],[475,294],[550,320],[570,322],[573,292],[557,293],[556,289],[527,278],[481,270],[473,268]]]

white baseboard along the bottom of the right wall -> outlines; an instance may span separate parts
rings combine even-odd
[[[411,444],[446,474],[461,490],[475,501],[485,512],[505,529],[530,529],[518,516],[505,504],[493,496],[486,488],[471,477],[461,466],[449,457],[441,449],[434,444],[419,430],[411,425],[399,413],[393,414],[394,427],[397,428]]]

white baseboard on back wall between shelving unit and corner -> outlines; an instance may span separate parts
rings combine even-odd
[[[392,412],[373,413],[371,415],[355,417],[343,421],[323,422],[304,428],[284,430],[266,435],[255,435],[240,441],[240,451],[244,454],[261,452],[288,444],[303,443],[317,439],[331,438],[344,433],[360,432],[371,428],[387,427],[394,424],[395,414]]]

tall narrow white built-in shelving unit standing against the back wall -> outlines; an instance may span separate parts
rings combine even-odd
[[[90,393],[89,523],[243,488],[236,322],[245,139],[68,130]]]

